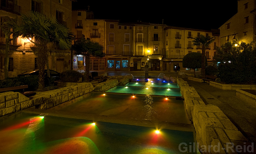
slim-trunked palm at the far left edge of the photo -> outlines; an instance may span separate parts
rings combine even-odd
[[[20,36],[20,32],[14,32],[13,28],[15,28],[17,24],[17,20],[15,19],[6,19],[1,23],[1,29],[4,32],[5,36],[5,63],[4,63],[4,79],[7,79],[9,76],[9,49],[11,41],[15,41],[15,39]]]

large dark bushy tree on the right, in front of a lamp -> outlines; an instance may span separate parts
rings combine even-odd
[[[256,50],[252,43],[228,41],[217,49],[213,62],[217,65],[219,78],[225,83],[256,83]]]

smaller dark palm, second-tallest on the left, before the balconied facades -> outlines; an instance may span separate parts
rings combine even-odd
[[[101,44],[91,41],[89,38],[85,39],[84,35],[72,45],[71,50],[74,55],[85,57],[85,82],[89,82],[90,56],[103,58],[105,56],[103,49]]]

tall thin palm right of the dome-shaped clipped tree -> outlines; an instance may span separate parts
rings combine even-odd
[[[205,49],[215,40],[215,37],[201,34],[193,39],[193,45],[202,46],[202,78],[205,78]]]

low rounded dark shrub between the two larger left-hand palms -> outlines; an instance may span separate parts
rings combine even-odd
[[[74,70],[68,70],[60,73],[60,80],[62,82],[77,82],[83,75]]]

